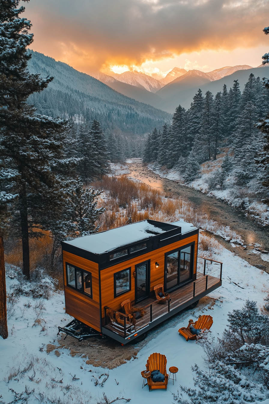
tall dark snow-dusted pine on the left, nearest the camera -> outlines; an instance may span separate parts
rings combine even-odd
[[[19,195],[23,274],[29,278],[29,195],[42,197],[44,189],[55,185],[52,166],[60,157],[65,123],[35,115],[26,103],[27,97],[46,88],[52,77],[41,79],[27,70],[31,55],[26,48],[33,42],[33,34],[29,34],[30,21],[20,18],[25,8],[18,6],[18,0],[0,4],[0,168],[5,181],[10,168],[17,173],[10,191]]]

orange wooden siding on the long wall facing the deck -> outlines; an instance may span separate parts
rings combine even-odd
[[[133,276],[135,272],[135,265],[150,260],[150,291],[154,286],[164,282],[164,270],[165,270],[165,252],[175,250],[181,246],[195,242],[194,246],[194,276],[196,279],[196,266],[197,266],[197,252],[198,252],[198,234],[194,234],[191,237],[184,238],[175,243],[158,248],[147,252],[146,254],[134,257],[128,261],[124,261],[113,267],[102,269],[100,271],[100,283],[101,283],[101,297],[102,297],[102,317],[104,317],[104,306],[109,306],[112,309],[119,310],[121,308],[121,302],[125,299],[135,300],[135,278]],[[155,262],[158,262],[160,266],[155,268]],[[131,267],[131,290],[123,295],[114,298],[114,274],[122,269]]]

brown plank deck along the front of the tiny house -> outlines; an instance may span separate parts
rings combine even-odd
[[[140,303],[136,303],[134,306],[143,307],[146,313],[143,317],[136,319],[134,327],[131,327],[124,332],[124,327],[117,327],[115,324],[108,323],[102,328],[102,330],[104,333],[106,333],[106,329],[119,335],[121,338],[130,339],[130,337],[137,335],[138,333],[142,334],[143,330],[145,332],[147,329],[159,324],[166,318],[173,316],[173,314],[188,307],[188,305],[197,301],[219,286],[221,286],[220,278],[215,278],[210,275],[204,276],[204,274],[198,272],[195,281],[169,293],[171,296],[170,302],[166,301],[165,303],[158,303],[156,299],[148,298]],[[121,339],[119,339],[119,341],[121,341]]]

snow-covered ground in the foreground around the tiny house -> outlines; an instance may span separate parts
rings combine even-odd
[[[241,308],[246,299],[254,300],[263,307],[263,299],[269,292],[267,273],[252,267],[221,245],[215,250],[214,258],[223,261],[223,284],[209,295],[215,299],[215,305],[202,309],[198,305],[195,309],[177,314],[165,323],[166,328],[156,338],[150,339],[138,352],[137,359],[112,370],[88,365],[87,358],[72,357],[67,349],[51,352],[48,349],[47,353],[48,344],[57,345],[58,325],[63,326],[71,319],[65,314],[63,292],[54,291],[50,297],[48,293],[48,299],[33,299],[32,293],[26,296],[25,292],[38,287],[38,283],[21,286],[16,271],[8,267],[8,294],[11,295],[19,286],[24,289],[24,294],[20,290],[17,297],[8,302],[9,336],[6,340],[0,339],[0,402],[13,402],[22,393],[21,399],[28,397],[25,402],[29,403],[96,404],[105,402],[105,393],[108,402],[124,397],[135,404],[172,403],[172,393],[176,393],[179,385],[193,387],[191,366],[196,363],[201,368],[207,368],[199,342],[186,342],[177,332],[178,328],[187,326],[189,318],[197,319],[202,313],[211,314],[214,320],[212,335],[221,335],[229,311]],[[15,278],[10,279],[8,275],[13,272]],[[94,339],[89,342],[94,343]],[[167,391],[142,389],[140,372],[145,369],[146,360],[153,352],[165,354],[167,371],[170,366],[179,368],[177,382],[173,385],[169,380]],[[17,402],[22,402],[21,399]]]

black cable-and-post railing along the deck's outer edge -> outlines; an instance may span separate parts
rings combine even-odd
[[[168,304],[167,303],[160,304],[159,301],[155,300],[146,306],[140,307],[144,309],[145,314],[142,318],[139,319],[135,318],[132,319],[127,314],[124,314],[120,311],[111,309],[111,307],[106,306],[104,307],[105,326],[111,324],[111,326],[113,326],[115,330],[118,330],[119,332],[123,333],[124,337],[126,337],[127,335],[133,333],[134,331],[137,331],[139,328],[143,328],[148,323],[151,323],[152,321],[156,320],[158,317],[164,316],[165,314],[169,313],[171,309],[173,310],[173,308],[178,307],[181,304],[186,303],[186,301],[192,300],[196,296],[200,295],[202,292],[208,289],[209,278],[211,282],[209,284],[210,287],[212,286],[212,278],[215,279],[219,278],[219,280],[221,281],[222,262],[215,261],[213,259],[206,257],[198,257],[198,259],[204,260],[203,276],[197,278],[194,282],[192,282],[193,286],[191,286],[190,283],[188,289],[184,290],[183,296],[180,296],[177,299],[173,298],[172,301],[168,300]],[[207,261],[210,262],[211,265],[213,263],[214,265],[219,264],[219,267],[214,270],[209,270],[208,265],[206,265]],[[218,271],[217,276],[215,276],[216,271]],[[202,274],[202,272],[200,272],[200,274]],[[173,292],[171,292],[171,295],[173,297]],[[109,316],[108,316],[108,310],[110,311]],[[108,318],[110,319],[110,321],[107,321]]]

